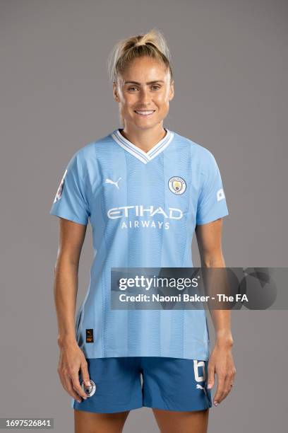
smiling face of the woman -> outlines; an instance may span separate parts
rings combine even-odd
[[[174,81],[169,69],[151,57],[134,59],[113,83],[114,99],[124,119],[124,127],[147,129],[162,124],[174,97]],[[145,110],[145,112],[139,112]],[[148,112],[148,114],[146,114]]]

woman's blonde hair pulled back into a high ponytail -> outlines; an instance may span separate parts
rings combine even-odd
[[[173,79],[171,55],[167,42],[160,30],[152,28],[148,33],[127,37],[114,45],[108,57],[110,81],[116,83],[118,76],[123,73],[133,59],[145,56],[163,62],[169,69],[171,80]]]

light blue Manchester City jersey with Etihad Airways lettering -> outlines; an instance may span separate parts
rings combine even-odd
[[[193,267],[196,225],[228,215],[208,149],[165,128],[147,153],[115,129],[76,151],[50,214],[92,225],[94,259],[76,316],[86,358],[208,360],[205,310],[112,310],[111,267]]]

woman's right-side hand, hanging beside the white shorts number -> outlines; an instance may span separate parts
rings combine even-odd
[[[232,347],[216,343],[208,362],[208,389],[215,383],[217,374],[217,391],[214,404],[217,406],[232,390],[236,369],[232,356]]]

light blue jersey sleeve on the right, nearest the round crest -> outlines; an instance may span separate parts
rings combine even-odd
[[[208,224],[229,214],[220,170],[208,149],[201,168],[196,224]]]

